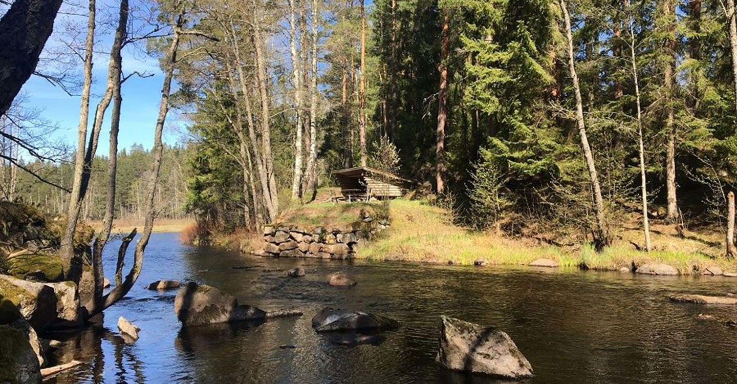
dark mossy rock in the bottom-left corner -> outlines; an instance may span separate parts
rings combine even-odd
[[[41,366],[31,344],[8,325],[0,325],[0,383],[41,383]]]

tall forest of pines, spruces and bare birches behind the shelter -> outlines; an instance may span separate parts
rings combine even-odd
[[[156,195],[173,198],[156,206],[166,217],[255,229],[335,185],[333,170],[368,165],[416,181],[455,223],[504,234],[603,248],[633,213],[643,228],[726,223],[737,154],[733,0],[134,8],[132,26],[168,24],[154,29],[164,34],[128,31],[130,41],[161,60],[176,42],[169,104],[189,132],[165,146]],[[74,150],[15,158],[34,120],[3,122],[4,198],[63,212]],[[119,154],[117,215],[141,217],[150,156]],[[91,162],[86,219],[104,216],[108,158]]]

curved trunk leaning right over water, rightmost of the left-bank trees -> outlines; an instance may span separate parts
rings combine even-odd
[[[122,265],[123,259],[125,258],[125,250],[128,248],[128,244],[136,236],[136,230],[133,231],[123,239],[118,252],[118,263],[116,265],[116,276],[115,276],[115,287],[107,295],[102,297],[101,305],[98,307],[99,311],[105,310],[115,304],[116,301],[122,299],[125,296],[133,284],[141,274],[141,268],[143,268],[143,256],[148,241],[151,237],[151,231],[153,230],[153,220],[156,216],[156,210],[154,206],[154,198],[156,197],[156,184],[158,183],[158,173],[161,170],[161,156],[164,151],[164,144],[161,142],[161,134],[164,131],[164,122],[167,119],[167,113],[169,112],[169,95],[172,88],[172,77],[174,75],[174,67],[177,60],[177,49],[179,47],[179,38],[181,35],[181,24],[184,16],[179,15],[177,24],[174,27],[174,35],[172,36],[172,42],[170,43],[169,49],[167,50],[166,60],[164,61],[164,84],[161,85],[161,102],[158,106],[158,117],[156,119],[156,128],[153,133],[153,150],[152,150],[152,163],[150,169],[150,179],[148,184],[148,191],[146,200],[144,200],[144,230],[141,234],[141,238],[136,242],[136,252],[133,255],[133,267],[130,268],[128,275],[125,276],[125,280],[122,280]],[[91,315],[94,315],[91,314]]]

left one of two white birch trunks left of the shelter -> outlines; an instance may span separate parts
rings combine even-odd
[[[297,55],[297,7],[296,0],[289,0],[289,47],[292,54],[292,76],[294,82],[294,108],[296,110],[296,135],[294,139],[294,177],[292,198],[302,195],[302,86],[300,84],[299,57]]]

